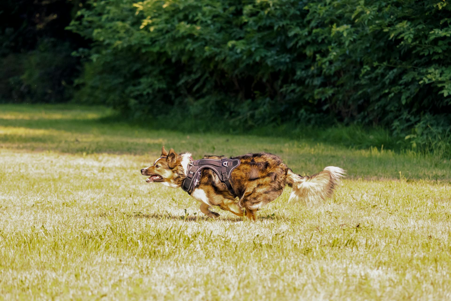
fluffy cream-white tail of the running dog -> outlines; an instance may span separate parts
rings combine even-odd
[[[301,201],[310,206],[318,204],[332,196],[335,186],[345,173],[346,171],[335,166],[328,166],[313,176],[299,176],[288,169],[285,184],[293,187],[288,201]]]

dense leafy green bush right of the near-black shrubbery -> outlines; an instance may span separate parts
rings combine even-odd
[[[449,1],[101,0],[79,97],[134,116],[174,110],[262,125],[382,125],[449,139]]]

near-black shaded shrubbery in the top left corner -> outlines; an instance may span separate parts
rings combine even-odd
[[[80,63],[71,53],[87,42],[65,30],[84,0],[0,3],[0,101],[64,102]]]

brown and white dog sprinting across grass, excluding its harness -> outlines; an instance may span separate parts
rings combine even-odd
[[[177,155],[172,148],[168,153],[163,146],[161,157],[152,166],[143,168],[141,174],[149,176],[147,183],[178,188],[186,177],[190,158],[190,153]],[[223,156],[204,158],[221,159]],[[255,221],[258,209],[281,195],[285,185],[293,188],[289,201],[297,199],[305,204],[317,204],[331,197],[339,179],[345,174],[340,167],[328,166],[313,176],[300,176],[288,168],[280,157],[270,153],[248,153],[230,158],[241,161],[230,175],[230,184],[236,195],[209,168],[201,171],[200,180],[191,193],[201,202],[200,211],[210,218],[219,216],[219,213],[209,210],[211,206],[219,206],[241,217],[246,214]]]

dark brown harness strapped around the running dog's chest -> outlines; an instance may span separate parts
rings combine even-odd
[[[226,184],[227,189],[231,194],[235,195],[235,191],[230,185],[230,174],[232,171],[238,167],[240,164],[239,159],[199,159],[196,161],[189,162],[188,171],[185,180],[182,184],[182,189],[188,194],[193,192],[194,187],[199,183],[200,174],[202,169],[210,168],[216,175],[218,175],[221,182]]]

